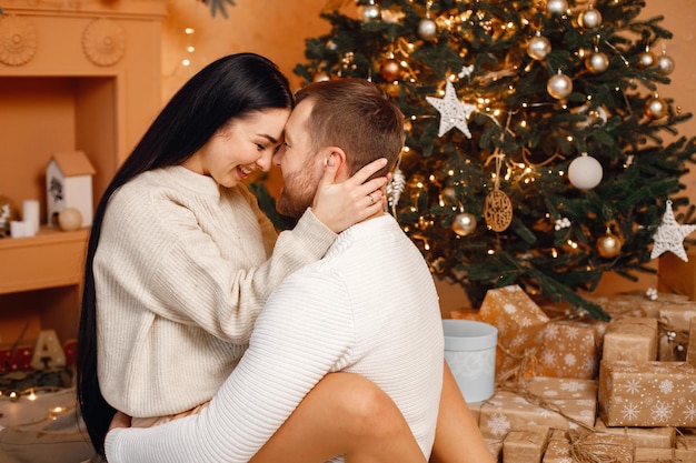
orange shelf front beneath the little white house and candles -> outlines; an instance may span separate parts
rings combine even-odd
[[[36,236],[0,239],[0,294],[79,285],[89,229],[41,228]]]

